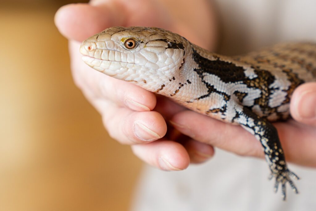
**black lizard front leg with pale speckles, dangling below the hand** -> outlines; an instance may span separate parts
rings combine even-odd
[[[283,200],[285,200],[285,185],[288,182],[293,191],[298,193],[290,177],[294,177],[295,179],[299,179],[299,177],[287,167],[276,128],[265,118],[259,117],[246,107],[237,104],[234,110],[236,113],[233,122],[240,124],[261,142],[265,159],[271,170],[270,179],[275,178],[275,192],[278,189],[279,183],[281,183]]]

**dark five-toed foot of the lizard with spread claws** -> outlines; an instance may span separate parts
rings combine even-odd
[[[283,196],[283,201],[285,201],[286,199],[286,183],[288,182],[289,185],[291,186],[292,190],[298,194],[298,190],[295,187],[295,184],[293,183],[293,181],[291,180],[290,177],[293,177],[296,180],[299,180],[300,178],[293,173],[292,171],[290,171],[289,169],[286,169],[285,171],[281,171],[278,174],[270,174],[269,179],[271,180],[272,178],[275,178],[275,183],[274,183],[274,192],[277,192],[278,187],[279,187],[279,183],[281,183],[282,186],[282,196]]]

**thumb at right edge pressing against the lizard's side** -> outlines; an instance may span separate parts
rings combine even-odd
[[[316,126],[316,82],[302,84],[294,91],[290,112],[296,121]]]

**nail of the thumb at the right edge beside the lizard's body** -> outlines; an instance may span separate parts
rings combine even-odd
[[[306,91],[301,94],[297,105],[297,112],[301,118],[311,119],[316,117],[316,92]]]

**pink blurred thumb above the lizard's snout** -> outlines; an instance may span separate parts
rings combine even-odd
[[[124,25],[125,12],[122,8],[116,1],[97,6],[68,4],[56,12],[55,25],[67,39],[81,42],[105,28]]]

